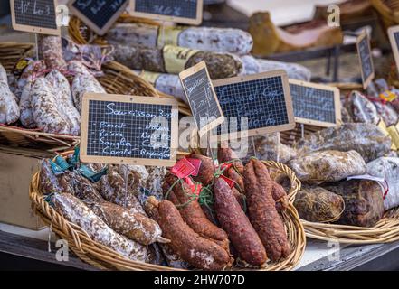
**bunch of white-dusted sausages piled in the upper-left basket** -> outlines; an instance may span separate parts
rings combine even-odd
[[[42,36],[39,52],[42,60],[26,61],[11,86],[0,63],[0,123],[19,120],[44,133],[80,135],[83,94],[106,91],[81,61],[63,59],[61,37]],[[71,84],[65,74],[73,75]]]

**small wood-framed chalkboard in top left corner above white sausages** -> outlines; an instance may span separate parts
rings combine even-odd
[[[56,6],[56,0],[10,0],[14,30],[60,35]]]

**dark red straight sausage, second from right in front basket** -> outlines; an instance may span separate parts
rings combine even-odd
[[[232,189],[221,178],[214,182],[214,209],[242,260],[252,266],[266,263],[266,250],[261,239],[235,199]]]

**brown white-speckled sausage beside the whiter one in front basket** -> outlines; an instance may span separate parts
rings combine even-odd
[[[153,219],[122,208],[108,201],[92,203],[90,209],[117,233],[142,245],[150,245],[162,236],[162,230]],[[165,239],[163,241],[166,241]]]

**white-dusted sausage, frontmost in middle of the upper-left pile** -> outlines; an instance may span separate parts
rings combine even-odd
[[[33,119],[45,133],[68,135],[71,126],[58,110],[55,91],[46,79],[38,78],[32,86]]]

